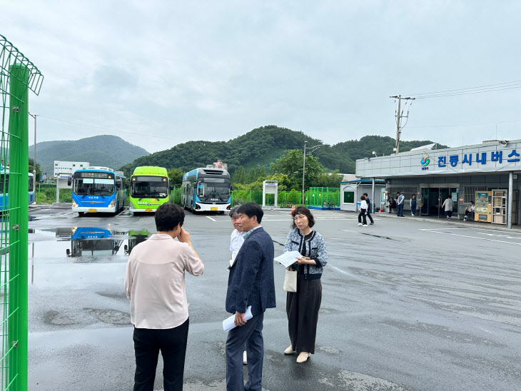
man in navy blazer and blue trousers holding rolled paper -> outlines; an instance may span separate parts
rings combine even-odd
[[[226,390],[260,391],[264,358],[263,318],[266,308],[275,308],[273,240],[260,226],[263,210],[246,203],[237,210],[244,243],[230,268],[226,311],[235,314],[235,325],[226,340]],[[253,318],[244,314],[251,305]],[[243,351],[248,353],[248,382],[244,384]]]

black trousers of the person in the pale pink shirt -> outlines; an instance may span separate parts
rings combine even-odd
[[[159,351],[163,356],[164,391],[183,390],[188,319],[178,327],[147,329],[134,327],[136,375],[133,391],[152,391]]]

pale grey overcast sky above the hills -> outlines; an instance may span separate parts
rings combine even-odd
[[[114,134],[154,152],[270,124],[395,137],[389,96],[521,80],[521,1],[0,1],[0,34],[45,76],[38,141]],[[418,99],[402,138],[496,128],[521,138],[521,88]]]

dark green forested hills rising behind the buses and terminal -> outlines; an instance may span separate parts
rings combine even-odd
[[[141,156],[135,161],[121,167],[127,176],[137,166],[161,166],[167,169],[181,168],[190,171],[197,167],[206,167],[217,159],[228,163],[228,171],[233,173],[238,166],[248,171],[251,168],[264,166],[280,158],[287,149],[300,149],[308,141],[308,147],[323,144],[322,140],[306,136],[303,132],[292,131],[278,126],[262,126],[253,129],[243,136],[230,141],[188,141],[178,144],[166,151],[159,151],[148,156]],[[400,141],[400,151],[423,146],[433,141]],[[313,152],[325,168],[341,173],[354,173],[355,161],[358,158],[369,158],[373,151],[377,156],[393,153],[395,141],[391,137],[364,136],[358,140],[345,141],[333,146],[321,146]],[[441,146],[440,148],[446,148]]]

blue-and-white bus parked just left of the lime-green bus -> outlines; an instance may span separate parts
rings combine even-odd
[[[72,184],[72,211],[84,213],[118,213],[126,200],[125,177],[111,168],[88,167],[74,171]]]

